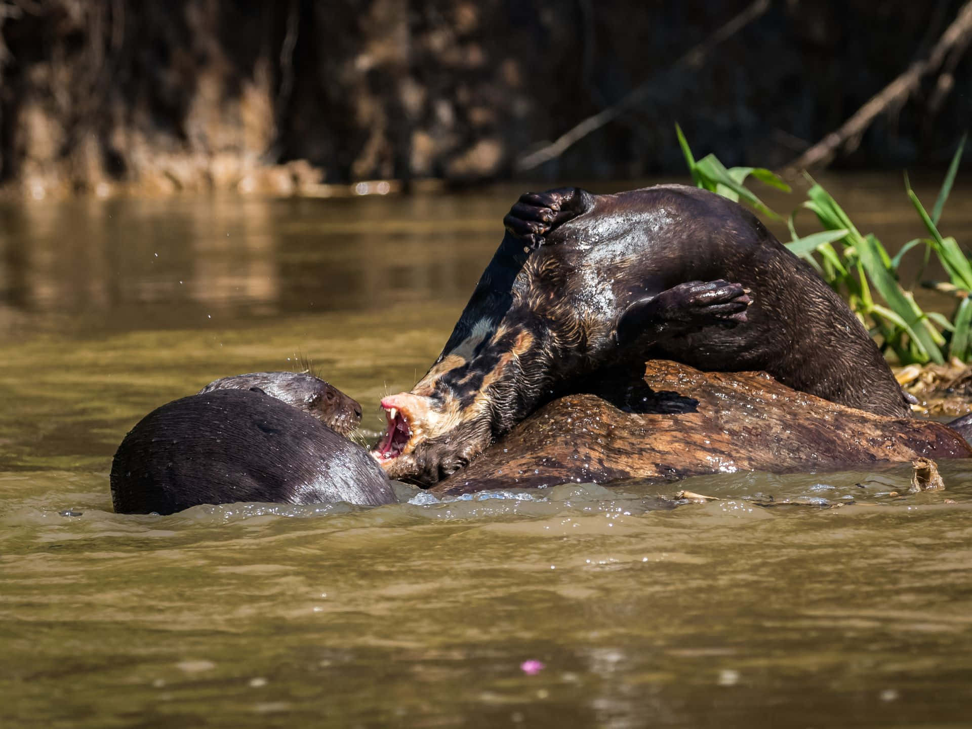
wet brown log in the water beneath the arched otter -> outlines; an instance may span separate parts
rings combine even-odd
[[[624,399],[570,395],[546,404],[432,492],[972,456],[941,423],[855,410],[790,390],[763,372],[701,372],[654,361],[644,383],[650,391],[634,399],[629,389]]]

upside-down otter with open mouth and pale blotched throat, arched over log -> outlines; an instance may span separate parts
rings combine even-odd
[[[680,185],[526,194],[433,367],[382,400],[373,455],[423,485],[599,370],[764,370],[879,415],[909,403],[843,299],[742,206]],[[579,383],[579,385],[578,385]]]

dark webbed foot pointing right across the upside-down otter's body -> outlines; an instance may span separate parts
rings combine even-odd
[[[617,343],[627,346],[644,335],[658,340],[712,324],[745,322],[751,303],[742,284],[688,281],[631,304],[618,320]]]

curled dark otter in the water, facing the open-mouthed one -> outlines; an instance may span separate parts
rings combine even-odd
[[[259,374],[269,375],[275,391],[303,402],[327,385],[291,372]],[[226,379],[239,385],[253,377]],[[162,405],[125,435],[112,462],[117,512],[171,514],[200,503],[397,501],[385,472],[343,436],[360,422],[355,400],[335,391],[340,397],[315,413],[322,423],[257,387],[210,387]]]

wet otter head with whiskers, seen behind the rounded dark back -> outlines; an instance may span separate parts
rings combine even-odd
[[[362,406],[333,385],[303,372],[250,372],[213,380],[198,395],[214,390],[251,390],[258,388],[271,398],[313,415],[330,430],[351,433],[362,422]]]

